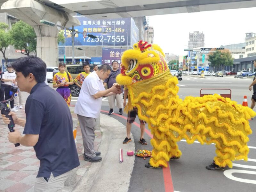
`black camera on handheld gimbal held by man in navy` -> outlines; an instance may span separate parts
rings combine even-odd
[[[0,73],[1,73],[0,75],[4,74],[4,72],[0,72]],[[8,128],[9,128],[10,132],[14,132],[15,130],[13,129],[13,127],[15,127],[15,124],[13,122],[12,116],[8,115],[10,113],[10,108],[8,107],[7,103],[14,99],[14,95],[18,90],[18,86],[1,83],[0,84],[0,89],[1,89],[1,87],[9,88],[10,91],[12,92],[12,96],[11,96],[10,99],[0,101],[0,110],[1,110],[1,114],[5,115],[7,118],[9,118],[11,120],[11,122],[8,124]],[[15,143],[14,145],[15,145],[15,147],[18,147],[20,145],[20,143]]]

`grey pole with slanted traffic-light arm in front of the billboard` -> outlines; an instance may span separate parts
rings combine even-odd
[[[75,45],[74,45],[75,34],[76,34],[76,33],[80,33],[80,34],[84,35],[84,33],[79,32],[79,31],[76,31],[76,30],[74,29],[74,25],[72,25],[72,28],[70,29],[70,28],[67,28],[67,27],[64,27],[64,26],[61,26],[61,25],[57,25],[57,24],[55,24],[55,23],[53,23],[53,22],[51,22],[51,21],[47,21],[47,20],[40,20],[40,23],[43,23],[43,24],[45,24],[45,25],[50,25],[50,26],[52,26],[52,27],[54,27],[54,26],[56,25],[57,27],[67,29],[67,30],[69,30],[69,31],[71,32],[71,38],[72,38],[72,64],[74,64],[74,60],[75,60],[75,49],[74,49],[74,47],[75,47]],[[58,23],[58,22],[57,22],[57,23]],[[88,34],[87,36],[90,37],[90,38],[92,38],[92,39],[96,39],[96,38],[97,38],[96,36],[91,35],[91,34]],[[84,54],[84,55],[85,55],[85,54]]]

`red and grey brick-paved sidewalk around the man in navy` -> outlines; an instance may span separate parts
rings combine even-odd
[[[18,109],[17,116],[25,119],[24,109]],[[76,114],[72,114],[73,118],[77,118]],[[16,125],[21,133],[23,127]],[[3,123],[0,117],[0,191],[2,192],[32,192],[34,191],[34,183],[39,169],[39,160],[36,158],[33,147],[19,146],[8,141],[9,129]],[[95,150],[98,150],[101,141],[101,132],[95,131]],[[77,127],[77,143],[76,148],[80,160],[80,166],[77,169],[77,182],[87,171],[91,162],[84,161],[83,158],[83,140],[80,127]]]

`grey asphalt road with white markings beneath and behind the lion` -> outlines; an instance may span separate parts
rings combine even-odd
[[[251,105],[252,92],[248,87],[252,79],[235,79],[234,76],[224,77],[206,77],[198,78],[195,76],[183,76],[183,80],[179,81],[179,93],[181,99],[186,96],[199,96],[200,89],[231,89],[231,99],[242,104],[244,95],[248,98],[248,105]],[[49,84],[51,86],[51,84]],[[204,91],[204,92],[203,92]],[[218,94],[229,93],[229,90],[214,90]],[[213,93],[210,90],[202,90],[202,93]],[[72,98],[71,104],[76,104],[77,98]],[[103,98],[102,110],[108,111],[108,98]],[[255,108],[256,109],[256,108]],[[115,108],[114,111],[118,112]],[[116,115],[111,115],[119,122],[126,125],[126,120]],[[124,117],[127,117],[124,114]],[[178,143],[183,155],[180,159],[170,161],[170,169],[172,175],[172,183],[174,191],[179,192],[238,192],[238,191],[255,191],[255,174],[256,169],[256,135],[254,133],[256,118],[251,123],[253,133],[249,136],[250,153],[249,160],[236,161],[233,168],[226,168],[224,171],[209,171],[205,169],[206,165],[212,163],[215,156],[214,145],[201,145],[194,143],[188,145],[186,142]],[[136,122],[139,124],[138,118]],[[148,127],[146,126],[148,129]],[[144,138],[148,141],[148,145],[143,146],[139,143],[140,128],[132,125],[132,134],[134,137],[136,149],[151,150],[150,137],[145,133]],[[124,138],[126,136],[124,135]],[[131,143],[131,142],[130,142]],[[120,148],[122,147],[120,143]],[[127,144],[129,145],[129,143]],[[148,169],[144,165],[148,163],[148,159],[136,157],[135,165],[132,172],[130,192],[164,192],[164,176],[162,169]]]

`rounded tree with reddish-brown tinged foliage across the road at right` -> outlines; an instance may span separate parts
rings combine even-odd
[[[208,55],[208,61],[211,62],[212,67],[214,67],[216,70],[218,70],[219,68],[223,70],[225,66],[233,65],[233,59],[231,57],[231,53],[225,49],[211,52]]]

